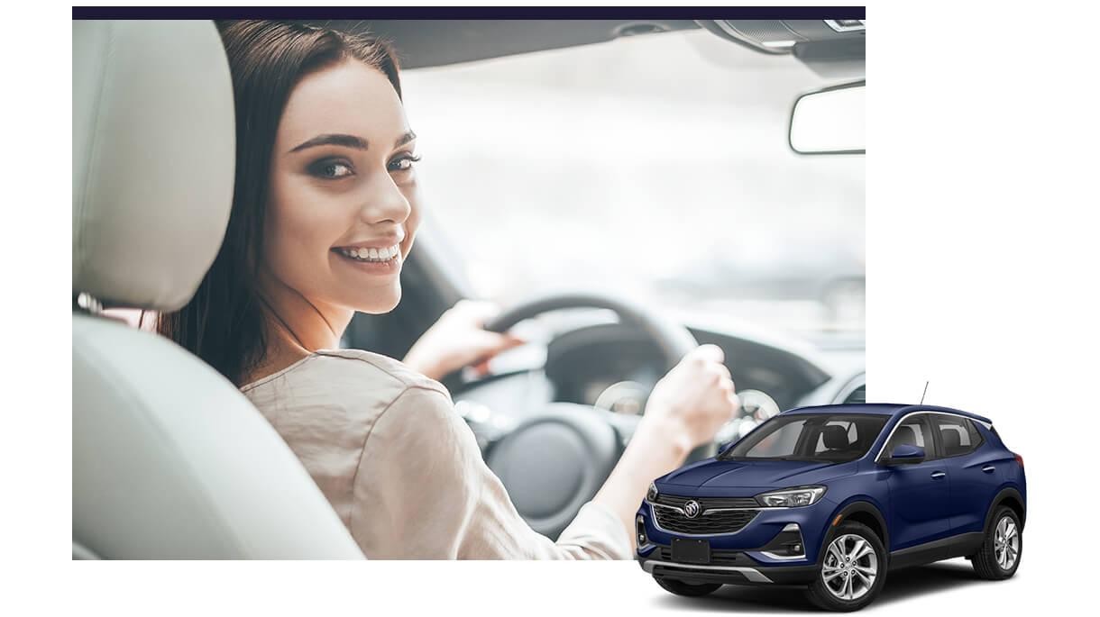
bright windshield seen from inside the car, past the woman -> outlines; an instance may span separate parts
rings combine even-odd
[[[845,80],[697,30],[402,81],[426,219],[480,297],[595,289],[862,344],[865,157],[787,141],[796,97]]]

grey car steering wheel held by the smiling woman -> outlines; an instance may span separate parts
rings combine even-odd
[[[508,309],[485,324],[493,332],[538,315],[566,308],[615,311],[656,344],[671,368],[698,343],[686,328],[669,322],[635,302],[596,294],[560,294]],[[501,478],[516,509],[543,535],[556,538],[592,499],[610,474],[625,448],[616,431],[616,414],[572,403],[550,403],[502,437],[486,453],[486,463]],[[689,461],[715,454],[715,444],[696,448]]]

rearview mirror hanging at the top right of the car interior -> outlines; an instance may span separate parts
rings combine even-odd
[[[865,154],[867,81],[809,92],[794,101],[788,141],[799,154]]]

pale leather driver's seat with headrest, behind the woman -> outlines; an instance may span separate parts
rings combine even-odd
[[[186,304],[226,232],[233,148],[212,23],[75,21],[74,298]],[[73,557],[363,555],[229,381],[162,337],[75,309]]]

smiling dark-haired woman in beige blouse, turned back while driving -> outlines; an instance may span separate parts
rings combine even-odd
[[[403,363],[339,349],[356,311],[400,300],[420,224],[416,135],[388,47],[293,23],[220,30],[237,113],[229,229],[195,297],[162,313],[158,330],[245,394],[369,558],[629,558],[648,482],[711,442],[737,408],[722,350],[688,353],[653,389],[595,497],[557,540],[536,532],[450,393],[418,370],[444,373],[463,360],[418,364],[426,354],[410,352]],[[455,306],[433,330],[475,330],[479,350],[514,344],[472,328],[472,306]],[[454,346],[438,332],[422,339]]]

